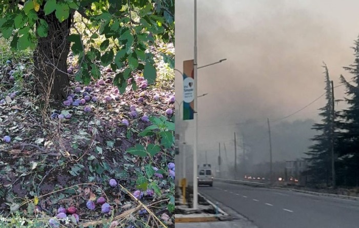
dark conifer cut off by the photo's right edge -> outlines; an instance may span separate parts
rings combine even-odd
[[[354,63],[344,67],[353,75],[352,80],[347,81],[341,75],[341,82],[346,86],[345,101],[349,107],[342,112],[344,122],[341,123],[341,133],[338,137],[338,165],[341,179],[347,180],[346,185],[359,186],[359,37],[354,44]]]

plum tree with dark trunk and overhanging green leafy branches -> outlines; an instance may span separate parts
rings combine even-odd
[[[76,28],[76,15],[85,32]],[[173,42],[174,0],[0,0],[0,33],[11,39],[13,51],[34,49],[38,93],[50,91],[56,100],[67,96],[70,49],[78,57],[77,81],[99,78],[101,63],[117,70],[113,83],[123,92],[133,71],[154,82],[153,54],[147,50],[155,40]]]

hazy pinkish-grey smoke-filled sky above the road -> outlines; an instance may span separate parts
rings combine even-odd
[[[175,4],[175,68],[182,71],[183,61],[193,59],[193,0]],[[198,98],[198,150],[215,153],[218,142],[232,143],[240,131],[235,123],[266,123],[307,106],[325,92],[323,61],[334,86],[341,74],[350,80],[343,67],[353,62],[358,8],[352,0],[197,0],[198,66],[228,59],[198,70],[198,95],[208,93]],[[182,85],[176,72],[178,103]],[[334,95],[343,99],[344,86]],[[318,121],[317,109],[325,102],[323,96],[285,120]],[[185,141],[191,144],[193,123],[186,124]]]

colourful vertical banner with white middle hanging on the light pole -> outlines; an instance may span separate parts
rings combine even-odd
[[[194,60],[183,61],[183,120],[193,119],[194,114]]]

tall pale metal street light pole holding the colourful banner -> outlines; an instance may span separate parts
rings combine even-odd
[[[194,77],[194,148],[193,148],[193,209],[198,209],[198,182],[197,182],[197,0],[194,0],[194,58],[193,58],[193,77]]]

